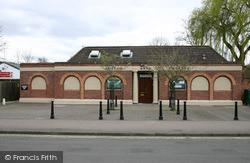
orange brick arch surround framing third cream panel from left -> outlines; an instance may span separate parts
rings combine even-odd
[[[86,79],[88,77],[97,77],[100,82],[101,82],[101,99],[104,99],[105,97],[105,89],[104,89],[104,84],[105,84],[105,80],[103,79],[103,77],[100,75],[100,74],[97,74],[97,73],[88,73],[86,75],[83,76],[82,78],[82,83],[81,83],[81,86],[82,86],[82,91],[81,91],[81,98],[84,99],[85,96],[84,96],[84,91],[85,91],[85,82],[86,82]]]

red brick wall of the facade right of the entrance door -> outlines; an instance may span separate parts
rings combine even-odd
[[[205,74],[209,77],[209,91],[192,91],[188,86],[191,86],[192,80],[190,80],[190,77],[200,74],[199,76],[203,76],[202,74]],[[232,91],[210,91],[210,87],[213,87],[213,82],[216,80],[218,76],[232,76],[234,78],[234,82],[231,81],[230,77],[228,77],[232,84]],[[188,89],[190,91],[190,99],[191,100],[210,100],[210,94],[213,94],[212,99],[213,100],[241,100],[242,99],[242,75],[239,73],[239,71],[193,71],[185,74],[187,76],[187,84],[186,84],[186,92],[185,91],[176,91],[176,98],[180,99],[187,99]],[[168,83],[167,83],[168,84]],[[234,85],[235,84],[235,85]],[[243,83],[243,87],[247,87],[246,84]],[[248,85],[248,89],[250,87],[250,83]],[[159,99],[160,100],[168,100],[170,97],[170,91],[168,89],[168,86],[166,85],[166,80],[160,80],[159,81]]]

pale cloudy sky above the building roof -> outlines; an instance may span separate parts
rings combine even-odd
[[[202,0],[0,0],[6,50],[17,61],[30,52],[49,62],[66,62],[86,46],[148,45],[155,37],[171,44],[183,20]]]

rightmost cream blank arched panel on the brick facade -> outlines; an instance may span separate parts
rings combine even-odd
[[[227,77],[218,77],[214,81],[214,90],[226,90],[229,91],[232,89],[231,81]]]

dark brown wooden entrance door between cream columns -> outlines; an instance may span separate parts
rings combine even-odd
[[[139,103],[153,102],[152,74],[139,74]]]

